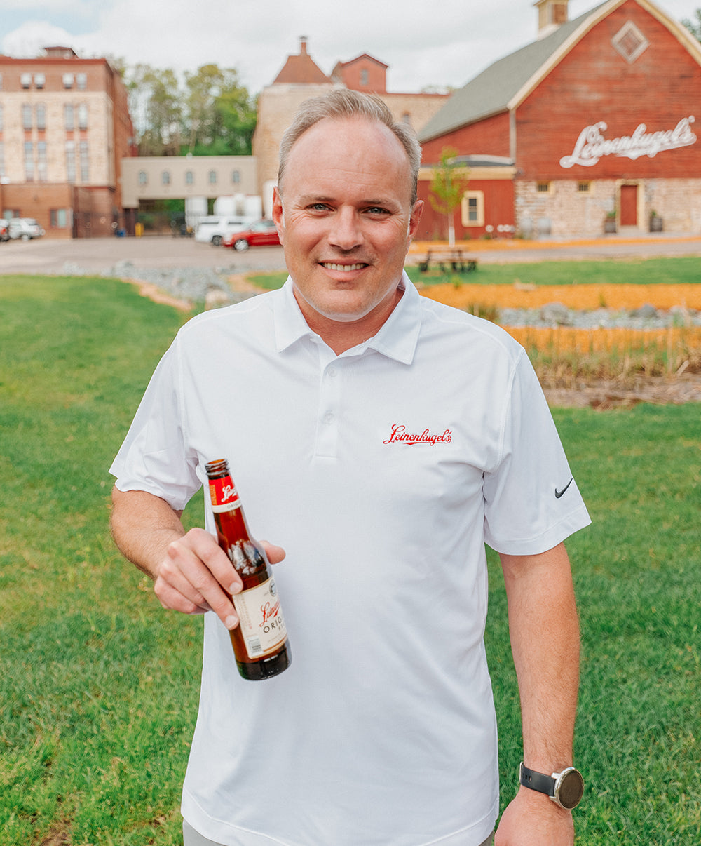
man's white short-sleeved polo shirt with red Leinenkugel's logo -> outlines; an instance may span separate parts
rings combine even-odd
[[[112,465],[178,509],[226,458],[253,534],[288,553],[285,673],[244,681],[205,615],[183,816],[216,842],[474,846],[494,826],[485,542],[545,552],[589,517],[523,349],[403,286],[339,356],[290,280],[189,321]]]

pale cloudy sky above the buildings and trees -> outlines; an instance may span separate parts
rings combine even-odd
[[[599,5],[570,0],[570,18]],[[701,0],[660,0],[693,19]],[[252,94],[275,79],[299,38],[326,74],[367,52],[389,65],[388,91],[459,88],[496,59],[534,41],[533,0],[0,0],[0,52],[32,57],[68,46],[83,58],[182,74],[235,68]]]

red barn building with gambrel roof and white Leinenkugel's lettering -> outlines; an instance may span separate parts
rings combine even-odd
[[[539,0],[537,41],[456,91],[419,131],[428,166],[470,170],[456,237],[701,232],[701,44],[649,0],[568,19]],[[426,199],[430,167],[422,169]],[[652,219],[654,217],[654,220]],[[419,237],[445,237],[425,204]]]

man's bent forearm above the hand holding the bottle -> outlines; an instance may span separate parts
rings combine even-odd
[[[185,534],[182,512],[145,491],[112,490],[112,537],[125,558],[156,579],[167,547]]]

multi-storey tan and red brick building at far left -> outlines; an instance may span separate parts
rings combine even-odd
[[[137,150],[123,81],[104,58],[44,52],[0,56],[0,211],[36,217],[60,238],[133,231],[121,162]]]

